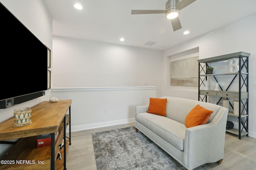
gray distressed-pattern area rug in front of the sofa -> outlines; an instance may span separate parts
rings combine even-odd
[[[97,170],[184,170],[134,127],[92,133]],[[194,170],[212,170],[202,165]]]

